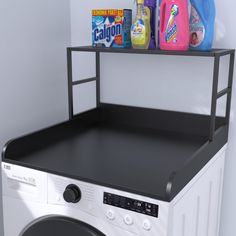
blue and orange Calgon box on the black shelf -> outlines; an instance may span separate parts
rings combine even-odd
[[[129,48],[132,10],[92,10],[93,47]]]

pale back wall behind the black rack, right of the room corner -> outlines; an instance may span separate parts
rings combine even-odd
[[[236,48],[236,32],[233,24],[235,20],[231,12],[233,1],[216,0],[216,4],[215,47]],[[71,0],[72,44],[74,46],[91,44],[91,9],[133,8],[133,6],[133,0]],[[74,56],[75,65],[78,66],[74,71],[75,79],[94,75],[94,55],[83,54],[82,56],[82,62],[78,56]],[[227,60],[228,58],[222,60],[219,89],[226,86]],[[206,58],[103,54],[102,101],[209,114],[212,65],[212,60]],[[234,93],[225,171],[221,236],[235,235],[236,189],[233,187],[236,178],[236,159],[234,158],[236,146],[233,145],[236,140],[235,101],[236,94]],[[91,100],[87,103],[92,104]],[[223,114],[224,104],[225,99],[220,99],[218,114]]]

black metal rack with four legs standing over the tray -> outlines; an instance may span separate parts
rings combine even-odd
[[[96,77],[83,79],[73,82],[72,76],[72,52],[94,52],[96,54]],[[161,51],[161,50],[135,50],[135,49],[114,49],[114,48],[93,48],[90,46],[84,47],[69,47],[67,48],[67,62],[68,62],[68,105],[69,105],[69,119],[73,119],[73,86],[96,81],[96,103],[97,107],[100,106],[100,53],[129,53],[129,54],[156,54],[156,55],[173,55],[173,56],[197,56],[197,57],[213,57],[213,84],[212,84],[212,99],[211,99],[211,114],[209,125],[209,140],[213,141],[215,135],[216,126],[216,108],[217,100],[222,96],[227,95],[225,124],[228,125],[230,121],[230,106],[232,97],[232,84],[234,73],[234,49],[213,49],[207,52],[201,51]],[[229,61],[229,75],[228,75],[228,87],[218,92],[219,70],[220,70],[220,58],[222,56],[230,55]]]

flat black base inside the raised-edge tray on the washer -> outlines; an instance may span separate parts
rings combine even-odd
[[[172,171],[183,166],[206,141],[204,137],[127,127],[91,126],[80,131],[75,126],[65,133],[61,132],[64,138],[59,142],[10,160],[161,200]]]

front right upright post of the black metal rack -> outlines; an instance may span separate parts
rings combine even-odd
[[[211,98],[211,119],[210,119],[210,134],[209,134],[209,140],[210,141],[213,141],[214,133],[215,133],[219,70],[220,70],[220,56],[215,55],[215,57],[214,57],[214,69],[213,69],[212,98]]]

